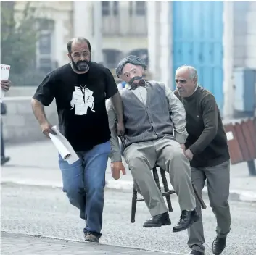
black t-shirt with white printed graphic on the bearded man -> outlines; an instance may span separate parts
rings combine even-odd
[[[117,91],[112,73],[102,64],[91,62],[88,72],[82,75],[76,74],[70,64],[65,64],[46,75],[33,99],[44,106],[56,99],[60,132],[75,151],[86,151],[110,140],[105,100]],[[87,102],[87,112],[84,106],[79,107],[78,97],[83,98],[82,104],[84,100]],[[79,113],[80,108],[83,112]]]

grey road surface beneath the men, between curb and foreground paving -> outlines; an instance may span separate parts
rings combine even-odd
[[[206,203],[208,206],[209,202]],[[173,208],[172,225],[180,214],[176,195],[173,195]],[[130,212],[131,193],[106,190],[101,243],[181,254],[189,252],[186,231],[172,233],[170,226],[143,228],[142,224],[149,218],[144,203],[138,206],[134,224],[130,223]],[[232,201],[231,214],[232,230],[223,255],[255,255],[256,204]],[[211,254],[215,218],[209,206],[204,210],[204,221],[206,254]],[[78,218],[78,210],[70,206],[61,190],[47,187],[1,185],[1,230],[83,241],[83,221]],[[16,245],[15,238],[13,244]]]

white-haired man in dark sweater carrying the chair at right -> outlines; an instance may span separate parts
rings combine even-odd
[[[231,214],[228,205],[230,156],[220,111],[215,98],[197,83],[197,70],[182,66],[176,70],[176,96],[186,109],[186,157],[191,165],[194,185],[202,193],[207,180],[212,212],[217,220],[217,236],[212,242],[212,253],[221,254],[230,232]],[[197,212],[201,214],[199,201]],[[189,228],[190,254],[205,254],[202,217]]]

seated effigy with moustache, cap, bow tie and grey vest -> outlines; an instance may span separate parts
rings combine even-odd
[[[144,197],[152,216],[144,227],[170,225],[168,209],[151,170],[157,164],[169,173],[181,208],[180,221],[173,227],[173,232],[178,232],[198,220],[189,160],[183,153],[187,137],[185,109],[167,85],[154,80],[146,82],[143,79],[145,70],[144,60],[136,56],[125,57],[117,64],[117,76],[126,83],[120,91],[125,124],[125,162],[131,170],[136,190]],[[107,113],[112,173],[120,176],[120,170],[125,170],[114,125],[117,116],[111,101],[107,104]]]

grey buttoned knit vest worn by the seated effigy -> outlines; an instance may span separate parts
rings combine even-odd
[[[165,85],[154,80],[146,82],[146,106],[128,88],[120,91],[123,100],[125,145],[152,141],[168,135],[173,138]]]

